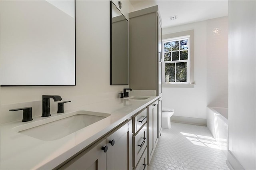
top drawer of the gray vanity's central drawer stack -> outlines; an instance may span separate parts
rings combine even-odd
[[[144,123],[147,121],[147,109],[140,111],[137,115],[133,117],[133,130],[132,133],[136,133]]]

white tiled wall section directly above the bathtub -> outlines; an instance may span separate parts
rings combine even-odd
[[[228,107],[228,17],[207,21],[207,106]]]

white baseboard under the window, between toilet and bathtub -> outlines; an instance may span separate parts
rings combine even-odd
[[[192,117],[182,117],[182,116],[172,116],[171,122],[175,123],[185,123],[190,125],[206,126],[206,119],[192,118]]]

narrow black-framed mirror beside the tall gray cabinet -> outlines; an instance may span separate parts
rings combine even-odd
[[[110,85],[128,85],[128,20],[112,1],[110,1],[110,20]]]

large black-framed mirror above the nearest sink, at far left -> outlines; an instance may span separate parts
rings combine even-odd
[[[0,1],[0,85],[76,85],[75,0]]]

